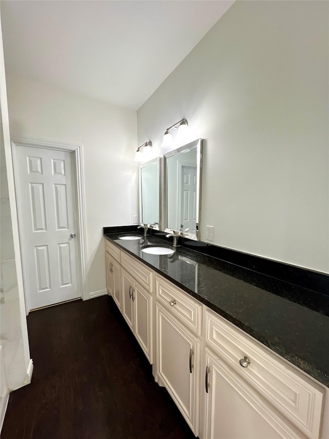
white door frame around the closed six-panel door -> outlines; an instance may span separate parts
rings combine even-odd
[[[74,154],[74,179],[75,179],[75,189],[77,194],[77,222],[78,222],[78,254],[79,254],[79,277],[80,277],[80,288],[81,288],[81,298],[82,300],[89,299],[88,289],[87,289],[87,277],[86,277],[86,229],[85,229],[85,198],[84,198],[84,175],[83,175],[83,160],[82,160],[82,145],[75,143],[64,143],[56,141],[47,141],[43,139],[31,139],[22,137],[12,137],[11,139],[11,150],[12,150],[12,160],[14,169],[14,182],[15,182],[15,198],[17,204],[17,220],[19,223],[19,239],[21,246],[21,261],[23,268],[23,285],[24,285],[24,297],[25,297],[25,307],[26,315],[30,311],[29,297],[25,293],[26,291],[26,276],[28,275],[25,271],[24,256],[22,251],[22,227],[23,215],[21,212],[21,207],[19,203],[19,191],[17,184],[17,146],[41,148],[41,149],[54,149],[58,151],[68,151]]]

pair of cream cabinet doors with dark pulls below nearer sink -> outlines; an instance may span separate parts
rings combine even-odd
[[[153,363],[153,297],[123,268],[121,271],[122,315],[138,343]]]

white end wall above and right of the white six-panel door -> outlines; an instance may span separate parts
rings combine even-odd
[[[7,77],[12,136],[83,145],[89,292],[105,290],[102,227],[138,215],[136,112]]]

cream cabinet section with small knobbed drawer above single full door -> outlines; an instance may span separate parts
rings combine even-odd
[[[156,276],[156,374],[193,433],[199,433],[202,305]]]

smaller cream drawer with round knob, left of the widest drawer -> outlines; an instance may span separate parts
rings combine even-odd
[[[155,277],[155,289],[157,298],[198,336],[201,335],[202,305],[162,277]]]

